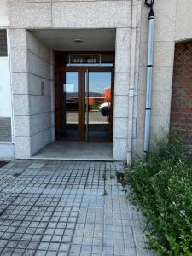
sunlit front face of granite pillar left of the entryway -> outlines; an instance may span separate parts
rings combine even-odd
[[[26,29],[10,29],[15,157],[30,156]]]

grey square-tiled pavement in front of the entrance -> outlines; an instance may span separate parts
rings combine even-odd
[[[148,255],[119,163],[14,160],[0,169],[0,255]],[[106,193],[105,193],[106,191]]]

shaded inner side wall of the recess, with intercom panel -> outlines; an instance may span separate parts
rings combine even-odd
[[[27,32],[28,95],[30,114],[31,154],[52,140],[50,49]]]

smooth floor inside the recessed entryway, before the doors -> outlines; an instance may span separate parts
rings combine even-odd
[[[32,159],[113,160],[113,143],[56,141],[41,149]]]

